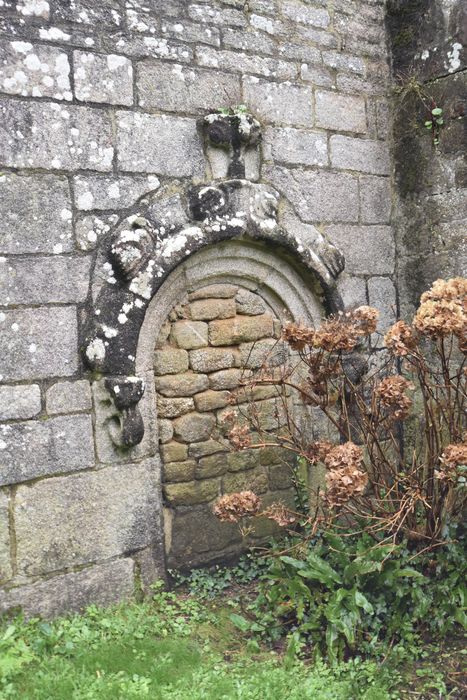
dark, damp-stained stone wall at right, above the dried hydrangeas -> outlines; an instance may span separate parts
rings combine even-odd
[[[467,8],[390,0],[398,289],[401,315],[439,278],[467,274]],[[420,93],[423,99],[420,99]],[[439,143],[424,127],[443,110]]]

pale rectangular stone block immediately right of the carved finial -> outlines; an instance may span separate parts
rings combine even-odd
[[[275,161],[297,165],[327,165],[328,144],[322,132],[268,129],[264,143]]]

